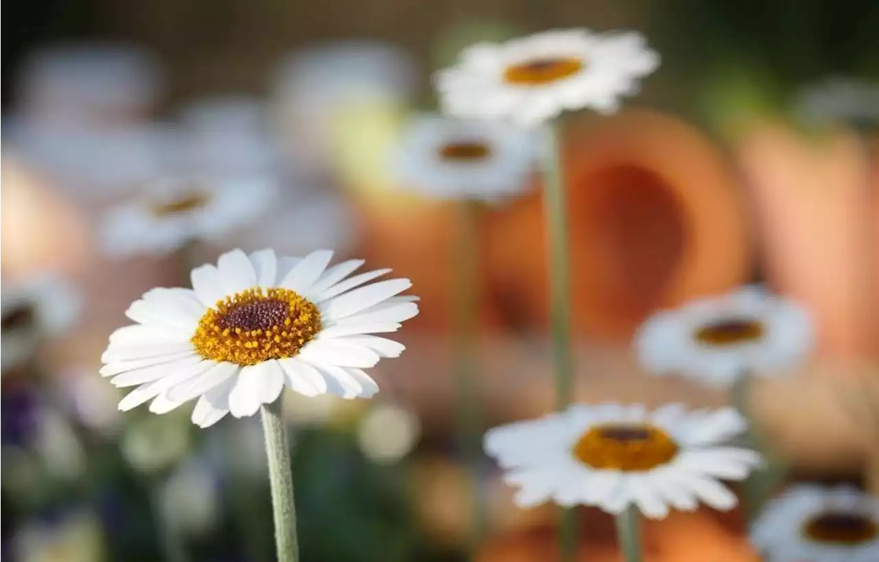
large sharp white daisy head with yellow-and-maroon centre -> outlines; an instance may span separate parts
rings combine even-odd
[[[136,324],[113,332],[102,356],[103,376],[137,387],[120,410],[152,400],[151,412],[170,412],[199,398],[192,420],[207,427],[229,412],[255,414],[285,386],[306,396],[373,396],[378,386],[363,369],[403,352],[374,334],[396,332],[418,314],[418,299],[398,296],[408,279],[365,285],[388,269],[350,277],[363,261],[327,267],[331,258],[235,250],[193,269],[193,289],[148,291],[126,312]]]

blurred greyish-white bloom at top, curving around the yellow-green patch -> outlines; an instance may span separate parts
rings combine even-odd
[[[368,40],[317,45],[279,65],[272,85],[273,121],[298,167],[323,172],[339,113],[354,105],[406,104],[417,84],[418,69],[400,48]]]

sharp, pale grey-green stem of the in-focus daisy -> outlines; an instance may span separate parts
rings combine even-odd
[[[290,449],[287,443],[283,404],[283,398],[278,398],[273,404],[262,407],[265,455],[268,458],[269,483],[272,487],[272,514],[278,562],[298,562],[299,544],[296,539],[293,472],[290,469]]]

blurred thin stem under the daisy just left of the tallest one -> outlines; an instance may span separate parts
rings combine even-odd
[[[487,528],[483,493],[482,415],[476,365],[479,307],[479,203],[457,203],[454,246],[454,383],[458,439],[470,472],[470,555]]]

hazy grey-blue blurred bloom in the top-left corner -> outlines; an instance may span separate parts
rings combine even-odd
[[[163,93],[148,52],[121,43],[70,43],[33,52],[16,87],[17,112],[43,124],[118,125],[146,117]]]

